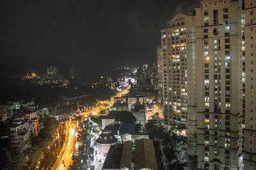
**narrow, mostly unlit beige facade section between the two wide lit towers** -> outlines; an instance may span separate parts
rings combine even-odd
[[[189,155],[197,155],[196,144],[196,29],[195,11],[186,17],[186,53],[187,53],[187,143]]]

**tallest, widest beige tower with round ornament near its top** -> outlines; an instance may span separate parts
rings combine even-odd
[[[201,169],[240,166],[241,15],[241,1],[202,0],[200,8],[196,8],[196,150]]]

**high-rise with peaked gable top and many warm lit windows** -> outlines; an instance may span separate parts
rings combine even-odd
[[[179,13],[170,20],[170,28],[161,30],[161,49],[157,50],[164,123],[169,127],[185,125],[187,119],[187,16]]]

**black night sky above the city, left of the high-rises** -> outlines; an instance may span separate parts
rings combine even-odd
[[[156,61],[159,30],[198,0],[1,0],[0,56],[58,59],[84,71]],[[22,57],[20,57],[22,58]]]

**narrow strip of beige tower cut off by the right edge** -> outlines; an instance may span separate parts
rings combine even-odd
[[[245,128],[244,128],[244,169],[256,169],[256,94],[255,94],[255,38],[256,1],[244,0],[245,38]]]

